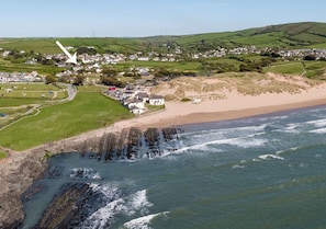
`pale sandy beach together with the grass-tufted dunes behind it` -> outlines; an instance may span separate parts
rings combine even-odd
[[[173,95],[175,101],[167,101],[165,111],[120,122],[114,127],[204,123],[326,104],[326,83],[273,73],[249,79],[179,78],[161,83],[154,92]],[[182,98],[201,102],[180,102]]]

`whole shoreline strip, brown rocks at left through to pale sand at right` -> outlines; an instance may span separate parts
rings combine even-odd
[[[220,91],[221,92],[221,91]],[[232,121],[268,115],[277,112],[326,105],[326,83],[308,87],[297,93],[262,93],[245,95],[236,90],[224,90],[223,99],[203,99],[200,103],[166,102],[166,108],[116,122],[108,127],[82,133],[55,142],[47,142],[24,151],[10,150],[10,157],[0,160],[0,228],[21,224],[24,218],[21,194],[44,175],[47,152],[74,152],[80,144],[124,128],[178,127],[190,124]]]

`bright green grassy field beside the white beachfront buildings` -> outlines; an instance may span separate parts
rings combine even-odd
[[[71,102],[44,107],[38,115],[0,130],[1,146],[24,150],[132,116],[120,103],[99,92],[79,92]]]

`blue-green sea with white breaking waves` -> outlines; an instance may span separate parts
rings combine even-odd
[[[326,228],[326,106],[181,128],[157,157],[53,157],[23,228],[68,183],[97,194],[70,228]]]

